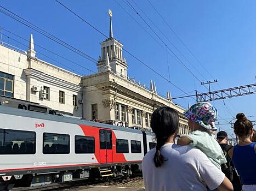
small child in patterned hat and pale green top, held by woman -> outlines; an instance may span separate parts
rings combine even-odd
[[[178,145],[195,146],[221,170],[220,164],[226,163],[226,158],[220,145],[211,135],[211,131],[217,130],[214,126],[217,120],[216,108],[208,102],[200,102],[192,105],[184,115],[189,118],[192,133],[182,136],[178,140]]]

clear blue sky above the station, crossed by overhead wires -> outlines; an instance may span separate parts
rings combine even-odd
[[[208,0],[175,0],[175,1],[156,1],[149,0],[166,19],[168,24],[174,29],[175,33],[183,40],[185,45],[194,53],[198,60],[204,65],[211,75],[196,61],[177,36],[168,28],[156,11],[151,7],[147,0],[136,1],[128,0],[138,13],[146,20],[153,30],[159,35],[164,43],[177,54],[187,68],[200,80],[218,79],[218,83],[212,84],[212,89],[236,87],[255,83],[256,76],[256,2],[255,1],[208,1]],[[93,26],[98,28],[106,35],[109,34],[109,17],[107,10],[113,12],[113,35],[123,43],[124,48],[133,53],[158,73],[169,79],[168,65],[170,70],[170,81],[179,86],[185,92],[193,94],[195,89],[200,92],[207,92],[199,81],[191,75],[174,57],[168,55],[166,49],[161,47],[161,40],[146,26],[141,18],[134,13],[134,10],[127,5],[126,0],[111,1],[67,1],[62,3],[74,10]],[[147,34],[132,17],[130,17],[122,8],[146,29],[158,43]],[[137,7],[136,4],[139,5]],[[13,1],[3,0],[1,5],[14,13],[41,27],[45,31],[75,46],[77,49],[87,53],[95,59],[100,55],[100,42],[105,37],[94,29],[79,20],[69,11],[61,7],[55,1]],[[161,29],[162,33],[169,39],[167,40],[158,29],[147,19],[140,10],[150,17],[155,25]],[[10,19],[0,13],[0,26],[21,37],[29,39],[31,33],[34,35],[35,49],[45,55],[61,62],[68,67],[73,68],[75,73],[79,72],[84,75],[90,72],[84,68],[78,67],[65,59],[56,57],[52,53],[42,50],[37,46],[41,45],[53,52],[59,53],[77,62],[90,70],[96,71],[96,65],[76,53],[54,43],[52,40],[45,38],[43,35],[22,25],[21,23]],[[3,34],[9,35],[10,38],[27,44],[27,41],[21,40],[6,31]],[[4,41],[8,39],[3,36]],[[169,41],[178,48],[186,57],[184,58]],[[18,46],[20,49],[27,48],[21,44],[9,39],[9,43]],[[163,45],[163,44],[162,44]],[[164,46],[164,45],[163,45]],[[128,74],[135,77],[136,81],[145,83],[149,86],[150,79],[156,82],[157,91],[166,95],[167,89],[172,93],[172,97],[177,97],[183,92],[172,86],[160,76],[147,69],[144,65],[136,61],[133,57],[123,52],[128,62]],[[60,65],[49,58],[37,53],[37,57],[44,59],[53,64]],[[189,60],[189,62],[187,61]],[[167,62],[168,61],[168,62]],[[65,68],[65,67],[63,67]],[[196,68],[196,69],[195,69]],[[70,69],[69,69],[70,70]],[[200,73],[198,73],[200,71]],[[177,99],[180,105],[187,106],[195,101],[191,98]],[[231,121],[232,116],[237,112],[244,112],[247,116],[256,116],[255,95],[230,98],[223,101],[212,102],[219,111],[221,118],[220,123]],[[255,120],[256,117],[250,118]],[[223,125],[221,129],[230,129],[230,125]],[[232,134],[232,130],[229,131]]]

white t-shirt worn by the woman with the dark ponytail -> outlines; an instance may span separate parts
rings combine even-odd
[[[189,145],[165,144],[161,154],[166,159],[161,167],[153,162],[156,148],[143,158],[142,169],[146,191],[206,191],[218,188],[225,175],[207,156]]]

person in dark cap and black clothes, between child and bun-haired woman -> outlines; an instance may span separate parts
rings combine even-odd
[[[227,133],[224,132],[223,130],[218,132],[217,140],[227,160],[227,163],[221,164],[221,171],[223,171],[226,177],[229,178],[229,180],[232,182],[234,191],[241,191],[242,186],[241,186],[240,178],[236,174],[234,164],[232,163],[232,160],[229,157],[229,154],[227,154],[227,152],[229,152],[229,150],[233,148],[232,145],[228,144]]]

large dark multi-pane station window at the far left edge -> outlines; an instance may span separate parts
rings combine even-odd
[[[0,71],[0,95],[13,97],[14,76]]]

